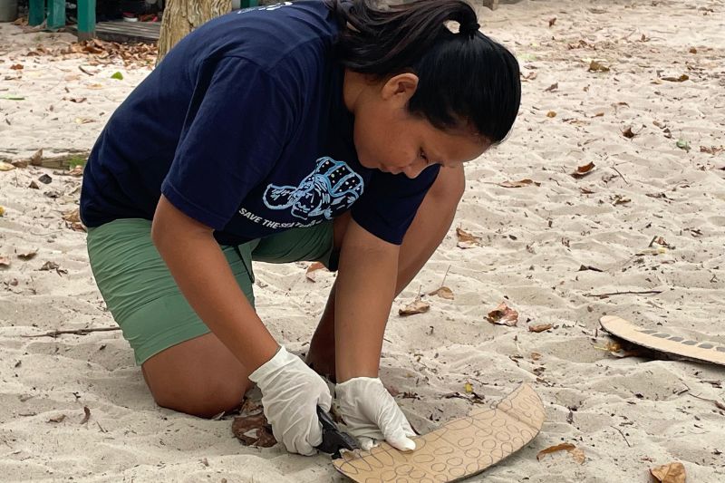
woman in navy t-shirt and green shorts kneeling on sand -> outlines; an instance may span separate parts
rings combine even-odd
[[[316,370],[363,448],[414,449],[378,379],[387,316],[449,229],[463,163],[520,100],[516,59],[478,28],[460,0],[285,2],[203,25],[131,92],[81,213],[155,401],[208,417],[254,382],[276,440],[309,455],[332,401]],[[339,270],[310,365],[257,316],[252,260]]]

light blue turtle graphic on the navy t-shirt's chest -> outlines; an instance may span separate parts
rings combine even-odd
[[[363,188],[362,177],[346,163],[324,157],[299,186],[270,184],[263,200],[270,209],[292,208],[293,217],[332,219],[353,206]]]

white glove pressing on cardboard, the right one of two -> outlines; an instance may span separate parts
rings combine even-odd
[[[415,436],[411,423],[378,378],[356,377],[335,386],[340,415],[362,449],[369,451],[386,440],[401,451],[412,451]]]

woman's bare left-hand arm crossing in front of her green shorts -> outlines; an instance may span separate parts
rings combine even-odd
[[[212,228],[161,196],[151,239],[191,307],[247,371],[275,355],[278,345],[237,285]]]

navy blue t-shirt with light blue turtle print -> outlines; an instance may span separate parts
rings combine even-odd
[[[360,165],[338,26],[319,0],[240,10],[182,39],[113,113],[86,166],[87,227],[152,219],[160,195],[237,245],[352,208],[400,244],[438,167]]]

